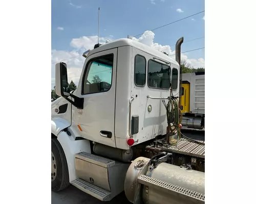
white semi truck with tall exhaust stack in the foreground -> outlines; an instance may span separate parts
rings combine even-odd
[[[180,49],[175,60],[132,39],[96,44],[75,91],[55,66],[51,184],[99,200],[124,191],[132,203],[204,203],[204,141],[181,133]]]

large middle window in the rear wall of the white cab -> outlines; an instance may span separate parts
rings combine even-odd
[[[148,87],[159,89],[168,89],[170,87],[169,66],[167,65],[149,60],[147,77]]]

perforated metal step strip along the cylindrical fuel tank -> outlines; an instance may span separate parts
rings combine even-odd
[[[205,195],[202,193],[198,193],[196,191],[191,191],[186,188],[182,188],[180,186],[169,184],[169,183],[160,181],[158,179],[154,179],[147,175],[141,175],[138,178],[138,182],[140,184],[143,184],[148,187],[165,189],[167,191],[173,191],[173,192],[176,192],[176,193],[179,193],[179,194],[182,194],[182,195],[185,195],[185,196],[188,196],[188,197],[191,197],[191,198],[203,201],[203,202],[205,201]]]

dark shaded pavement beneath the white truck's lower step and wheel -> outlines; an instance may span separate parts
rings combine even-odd
[[[52,204],[114,204],[114,203],[122,203],[122,204],[131,204],[126,197],[124,192],[119,194],[117,197],[113,198],[109,202],[102,202],[87,193],[82,192],[81,190],[75,188],[74,186],[70,186],[69,188],[60,191],[60,192],[52,192]]]

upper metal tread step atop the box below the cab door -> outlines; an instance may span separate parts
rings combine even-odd
[[[87,161],[87,162],[91,162],[93,164],[97,164],[99,166],[105,167],[105,168],[109,168],[111,166],[115,165],[115,161],[108,159],[108,158],[104,158],[104,157],[100,157],[97,155],[92,155],[89,154],[87,152],[80,152],[78,154],[75,155],[76,158]]]

